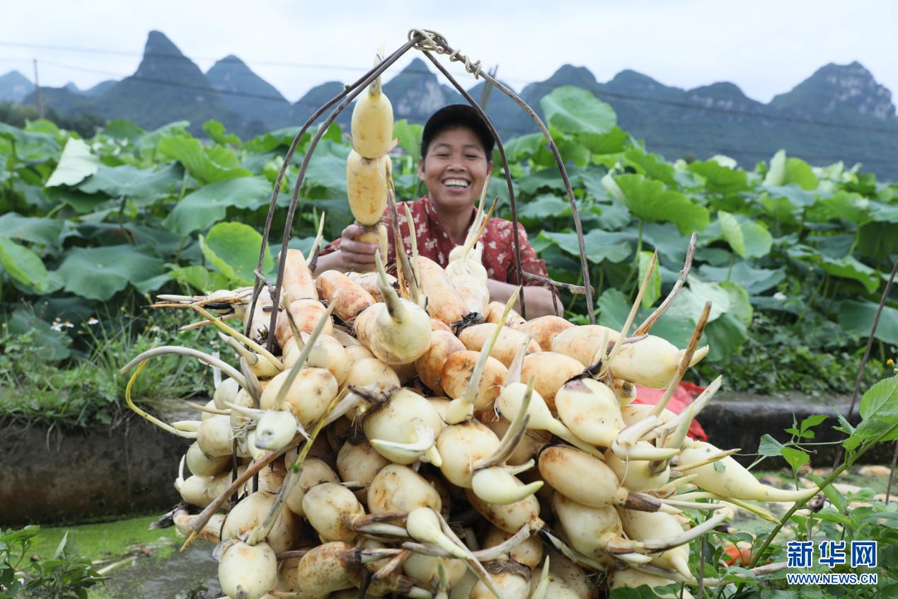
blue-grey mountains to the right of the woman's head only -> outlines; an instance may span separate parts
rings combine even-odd
[[[864,164],[866,170],[898,180],[898,161],[886,159],[898,155],[898,135],[889,132],[898,131],[891,92],[857,62],[823,66],[769,104],[748,98],[726,82],[683,90],[625,70],[602,84],[588,69],[571,65],[561,66],[545,81],[526,85],[521,95],[542,116],[541,97],[559,85],[577,85],[611,104],[621,128],[668,159],[727,154],[751,167],[786,148],[812,164],[843,160],[850,165],[872,159]],[[807,119],[824,121],[823,126],[800,122]],[[535,131],[523,112],[499,127],[504,137]]]

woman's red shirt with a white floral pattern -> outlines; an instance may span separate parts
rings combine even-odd
[[[409,224],[406,222],[405,210],[401,203],[399,207],[399,224],[402,232],[402,242],[406,248],[411,248]],[[422,256],[434,260],[437,264],[445,269],[449,264],[449,252],[455,247],[455,243],[449,237],[449,233],[440,224],[439,217],[436,216],[436,210],[430,203],[430,198],[424,196],[413,202],[405,202],[411,211],[412,221],[415,223],[415,233],[418,236],[418,253]],[[474,216],[474,209],[471,208],[471,218]],[[392,210],[388,207],[383,213],[384,220],[392,227]],[[390,235],[390,256],[389,260],[395,258],[395,249],[392,245],[392,228]],[[521,245],[521,266],[525,271],[541,277],[548,277],[546,263],[536,257],[536,251],[527,242],[527,232],[524,226],[517,224],[518,242]],[[331,242],[322,254],[328,254],[339,248],[340,239]],[[486,231],[480,237],[480,242],[484,244],[483,255],[481,261],[483,267],[487,269],[489,278],[501,281],[503,283],[511,283],[518,285],[517,269],[515,269],[515,238],[512,233],[511,221],[504,218],[490,218]],[[532,284],[532,283],[528,283]],[[548,286],[548,284],[546,284]]]

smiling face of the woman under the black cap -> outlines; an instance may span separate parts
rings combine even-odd
[[[480,139],[471,129],[444,129],[418,163],[418,175],[427,184],[437,207],[462,210],[474,206],[487,179],[490,163]]]

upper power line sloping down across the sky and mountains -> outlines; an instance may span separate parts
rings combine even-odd
[[[13,47],[22,47],[22,48],[42,48],[42,49],[51,49],[51,50],[60,50],[66,52],[87,52],[92,54],[110,54],[110,55],[126,55],[126,56],[144,56],[144,57],[155,57],[162,59],[172,59],[172,60],[187,60],[189,62],[193,62],[191,58],[184,56],[183,54],[170,54],[165,52],[134,52],[128,50],[115,50],[115,49],[102,49],[102,48],[76,48],[70,46],[55,46],[48,44],[28,44],[28,43],[20,43],[20,42],[8,42],[8,41],[0,41],[0,46],[13,46]],[[198,57],[199,59],[207,59],[207,60],[215,60],[212,57]],[[227,57],[219,59],[219,62],[232,62],[232,63],[242,63],[242,60],[239,58],[229,59]],[[365,71],[367,69],[357,66],[343,66],[343,65],[321,65],[321,64],[309,64],[309,63],[293,63],[293,62],[284,62],[284,61],[266,61],[266,60],[252,60],[255,64],[260,65],[275,65],[275,66],[293,66],[297,68],[315,68],[315,69],[341,69],[341,70],[349,70],[349,71]],[[414,75],[436,75],[432,71],[428,69],[405,69],[402,71],[403,73],[414,74]],[[121,76],[121,75],[119,75]],[[515,79],[510,79],[515,80]],[[516,80],[518,82],[522,82],[522,80]],[[552,84],[549,82],[532,82],[528,84],[528,86],[533,87],[557,87],[557,84]],[[823,128],[838,128],[845,130],[856,130],[856,131],[864,131],[867,133],[880,133],[886,135],[898,135],[898,128],[877,128],[877,127],[867,127],[863,125],[849,125],[845,123],[836,123],[827,120],[817,120],[817,119],[804,119],[800,117],[791,117],[788,115],[778,115],[778,114],[770,114],[762,111],[750,111],[750,110],[734,110],[734,109],[726,109],[716,106],[706,106],[704,104],[698,104],[695,102],[687,102],[687,101],[674,101],[674,100],[663,100],[660,98],[649,98],[647,96],[639,96],[628,93],[619,93],[619,92],[606,92],[604,90],[590,90],[594,95],[605,98],[612,98],[616,100],[623,101],[634,101],[634,102],[644,102],[650,104],[658,104],[661,106],[670,106],[674,108],[682,108],[685,110],[701,110],[707,112],[716,112],[719,114],[730,114],[734,116],[740,117],[749,117],[753,119],[767,119],[767,120],[775,120],[780,122],[789,122],[796,123],[802,125],[811,125],[814,127],[823,127]],[[762,104],[762,106],[766,106]]]

